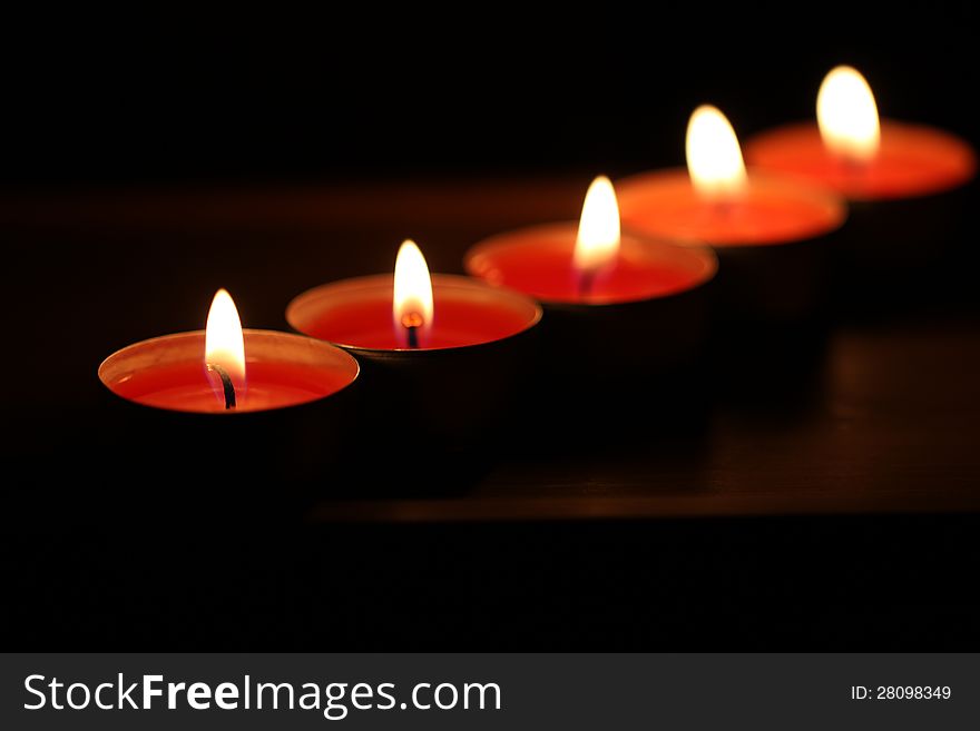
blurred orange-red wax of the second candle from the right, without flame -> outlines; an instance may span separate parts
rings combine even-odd
[[[648,236],[712,246],[768,246],[815,238],[839,228],[844,204],[812,185],[749,170],[737,200],[698,194],[686,169],[645,172],[616,184],[623,226]]]

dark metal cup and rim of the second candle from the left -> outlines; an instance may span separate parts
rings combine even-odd
[[[391,480],[405,485],[412,477],[434,478],[444,465],[459,465],[448,455],[478,456],[506,448],[516,438],[506,425],[522,407],[520,396],[538,357],[542,313],[533,300],[467,277],[432,279],[439,296],[477,298],[488,306],[500,303],[517,313],[522,325],[509,336],[457,347],[336,344],[362,368],[357,441],[370,445],[374,464],[390,466]],[[315,337],[321,335],[318,318],[350,293],[390,297],[390,277],[323,285],[296,297],[286,319],[297,332]],[[438,310],[435,317],[438,323]]]

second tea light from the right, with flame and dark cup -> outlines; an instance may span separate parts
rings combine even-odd
[[[687,166],[621,180],[624,227],[709,244],[721,260],[725,315],[793,320],[811,314],[827,238],[846,217],[843,201],[786,176],[746,171],[731,124],[710,106],[690,117]]]

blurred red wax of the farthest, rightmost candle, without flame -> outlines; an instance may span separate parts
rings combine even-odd
[[[977,156],[962,139],[891,120],[881,122],[878,155],[861,165],[847,165],[833,155],[813,122],[780,127],[749,139],[745,159],[827,186],[853,200],[942,192],[968,182],[977,171]]]

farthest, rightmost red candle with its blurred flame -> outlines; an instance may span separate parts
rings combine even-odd
[[[852,200],[914,198],[970,181],[977,156],[964,140],[921,125],[882,120],[868,82],[837,67],[817,95],[817,121],[763,132],[745,145],[749,164],[791,174]]]

